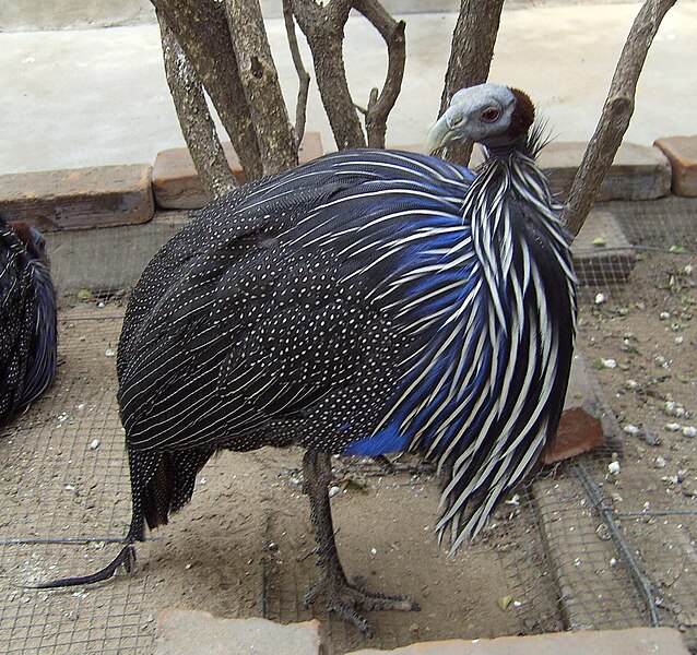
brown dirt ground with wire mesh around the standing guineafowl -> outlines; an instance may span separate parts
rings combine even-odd
[[[376,617],[371,645],[653,623],[682,630],[697,647],[697,440],[686,430],[697,409],[697,207],[670,198],[599,210],[612,221],[601,215],[576,252],[584,282],[579,350],[617,418],[614,440],[543,472],[505,504],[483,543],[454,559],[433,539],[432,474],[350,464],[334,499],[347,567],[378,571],[368,582],[379,577],[385,591],[411,584],[426,612]],[[294,452],[250,453],[241,464],[226,453],[209,464],[185,515],[139,547],[135,575],[26,588],[101,568],[126,533],[115,373],[121,303],[119,294],[63,302],[57,381],[2,430],[3,653],[152,652],[156,617],[173,605],[282,621],[315,616],[303,605],[316,571]],[[367,483],[352,492],[356,479]],[[402,512],[409,529],[382,535]],[[363,645],[341,621],[319,616],[331,653]]]

